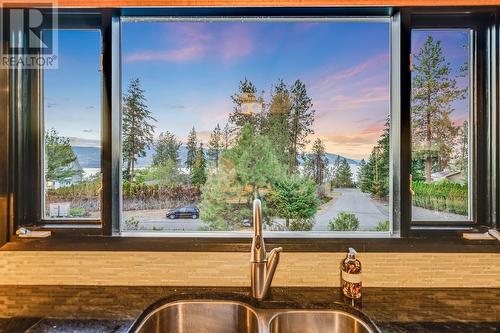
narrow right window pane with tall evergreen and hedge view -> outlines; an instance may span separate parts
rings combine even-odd
[[[412,31],[412,219],[472,220],[471,29]]]

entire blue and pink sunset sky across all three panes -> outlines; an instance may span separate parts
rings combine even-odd
[[[388,23],[134,22],[122,33],[122,89],[141,80],[157,134],[184,141],[194,125],[207,143],[245,77],[266,99],[279,78],[302,80],[316,110],[311,141],[320,137],[328,152],[349,158],[368,157],[389,114]],[[441,36],[454,68],[467,54],[457,35]],[[60,69],[45,74],[46,127],[87,143],[99,138],[99,38],[61,32]],[[413,47],[422,42],[415,36]],[[456,103],[457,119],[464,105]]]

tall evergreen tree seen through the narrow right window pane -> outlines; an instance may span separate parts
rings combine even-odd
[[[440,170],[450,160],[451,141],[456,135],[450,120],[452,103],[464,93],[446,62],[441,42],[428,36],[415,55],[411,91],[413,150],[424,161],[427,182],[432,180],[433,160],[438,160]]]

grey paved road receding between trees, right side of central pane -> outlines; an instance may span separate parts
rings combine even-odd
[[[356,214],[361,230],[373,229],[379,222],[388,219],[368,193],[363,193],[357,188],[335,189],[335,192],[341,193],[340,197],[316,214],[313,230],[328,230],[328,223],[340,212]]]

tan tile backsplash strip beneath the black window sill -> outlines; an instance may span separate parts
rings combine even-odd
[[[274,286],[338,286],[343,253],[283,253]],[[366,287],[500,288],[499,253],[361,253]],[[0,285],[249,285],[242,252],[1,251]]]

